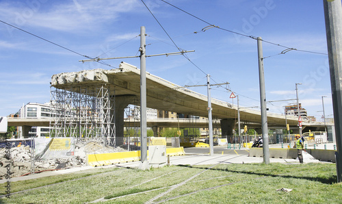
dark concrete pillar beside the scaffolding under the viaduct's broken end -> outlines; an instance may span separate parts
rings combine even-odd
[[[135,95],[116,96],[114,101],[115,106],[115,145],[121,146],[124,144],[124,108],[127,105],[134,103],[137,97]],[[112,139],[113,140],[113,139]],[[114,141],[111,141],[113,144]]]

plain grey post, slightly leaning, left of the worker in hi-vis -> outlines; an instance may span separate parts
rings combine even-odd
[[[259,60],[259,84],[260,84],[260,103],[261,103],[261,130],[263,132],[263,162],[265,162],[265,164],[269,164],[265,78],[264,78],[264,72],[263,72],[263,44],[262,44],[261,37],[258,37],[258,60]]]

